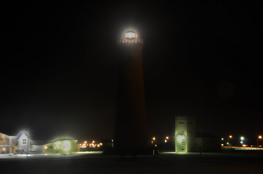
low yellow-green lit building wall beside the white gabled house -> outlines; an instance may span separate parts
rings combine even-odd
[[[42,147],[45,154],[76,152],[76,140],[58,140]]]

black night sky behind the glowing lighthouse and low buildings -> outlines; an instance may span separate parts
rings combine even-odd
[[[122,4],[122,5],[120,5]],[[3,4],[0,132],[113,139],[117,40],[144,39],[148,138],[196,130],[256,143],[262,134],[261,4]],[[238,139],[236,138],[236,141]]]

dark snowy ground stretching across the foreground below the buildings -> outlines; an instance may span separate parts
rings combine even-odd
[[[69,154],[1,159],[1,173],[263,173],[263,154],[172,153],[131,156]]]

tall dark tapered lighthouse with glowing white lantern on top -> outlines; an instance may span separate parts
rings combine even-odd
[[[119,74],[114,148],[140,153],[147,148],[146,115],[141,49],[143,39],[127,32],[118,40]]]

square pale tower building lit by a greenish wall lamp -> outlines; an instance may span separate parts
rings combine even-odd
[[[175,117],[175,152],[193,152],[195,117]]]

